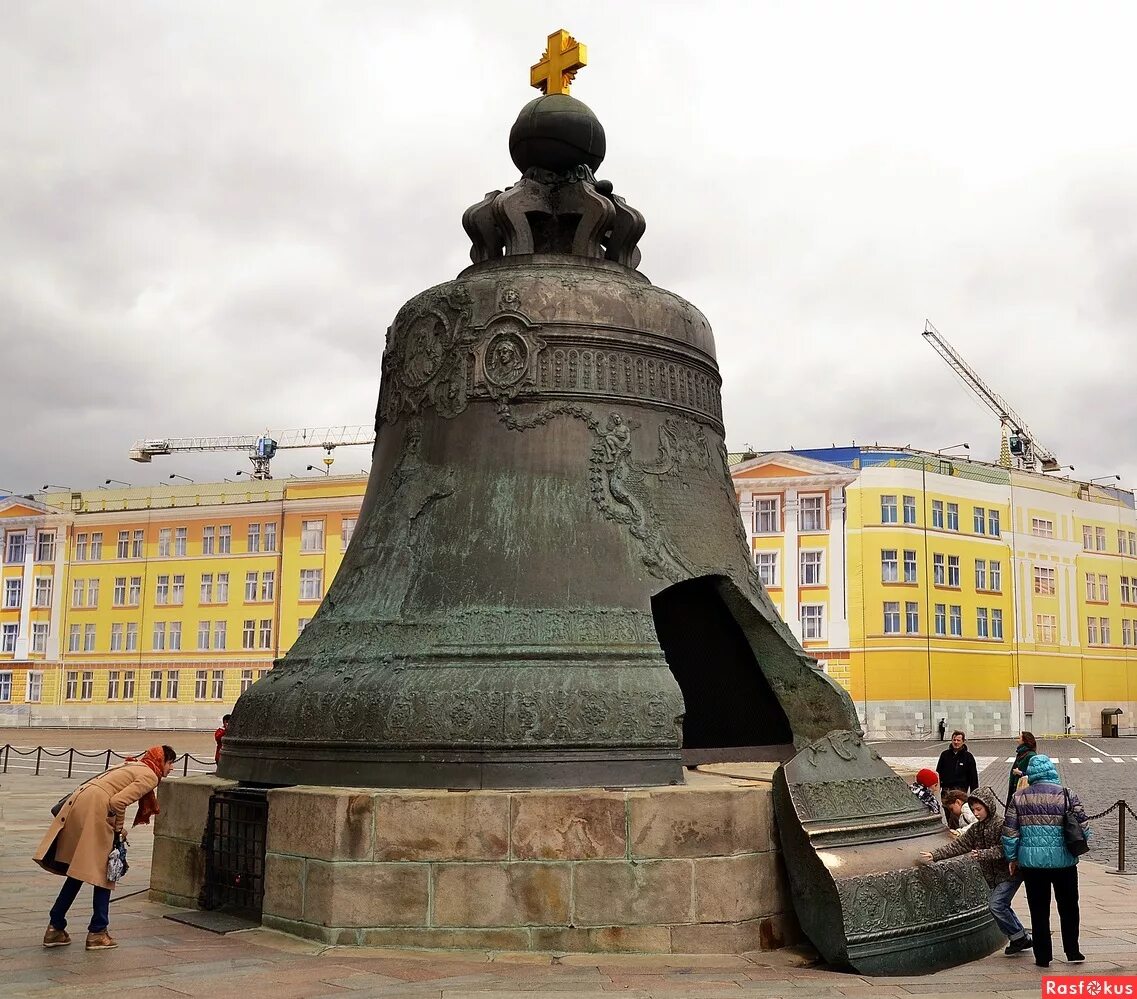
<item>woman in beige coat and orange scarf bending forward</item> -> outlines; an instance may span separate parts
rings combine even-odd
[[[51,907],[43,934],[44,947],[65,947],[67,909],[84,883],[94,888],[94,915],[88,926],[88,950],[111,950],[118,944],[107,932],[110,922],[110,890],[107,857],[115,835],[126,838],[126,808],[139,802],[134,825],[147,823],[158,811],[155,789],[173,769],[177,754],[168,746],[152,746],[139,759],[107,771],[76,789],[64,802],[32,858],[44,871],[67,880]]]

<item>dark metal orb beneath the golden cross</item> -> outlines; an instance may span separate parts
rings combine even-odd
[[[596,115],[566,93],[530,101],[509,130],[509,156],[522,173],[540,167],[561,174],[582,165],[595,170],[605,148]]]

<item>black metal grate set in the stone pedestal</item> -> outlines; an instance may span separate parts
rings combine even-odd
[[[263,789],[214,791],[206,825],[201,907],[260,918],[265,899],[268,797]]]

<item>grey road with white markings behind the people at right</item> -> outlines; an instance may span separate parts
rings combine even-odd
[[[1006,798],[1006,781],[1014,743],[1006,739],[977,739],[968,743],[979,765],[979,782],[990,784],[999,801]],[[946,742],[874,742],[873,748],[897,768],[935,769]],[[1137,738],[1095,739],[1071,736],[1038,743],[1038,751],[1055,760],[1062,781],[1078,792],[1086,811],[1103,811],[1119,799],[1137,811]],[[1118,813],[1096,819],[1090,850],[1094,859],[1110,867],[1118,864]],[[1127,816],[1126,868],[1137,871],[1137,818]]]

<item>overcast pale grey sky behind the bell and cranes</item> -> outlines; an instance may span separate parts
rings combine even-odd
[[[642,272],[715,331],[731,448],[994,458],[927,317],[1078,477],[1137,486],[1132,3],[10,0],[0,488],[232,478],[126,452],[370,423],[557,27]]]

